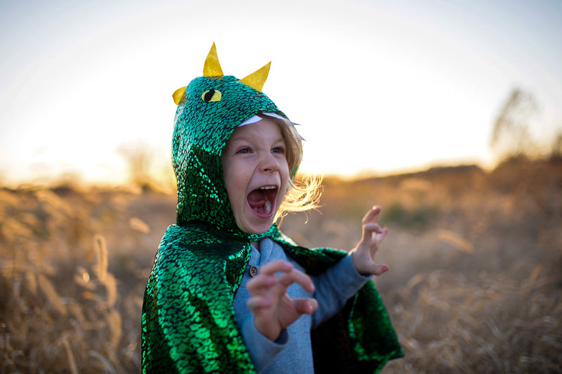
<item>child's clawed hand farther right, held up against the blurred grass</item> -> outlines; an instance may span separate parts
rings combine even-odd
[[[375,264],[375,254],[388,233],[388,228],[381,228],[376,222],[381,207],[375,206],[363,217],[363,237],[351,251],[355,269],[362,274],[380,276],[388,271],[388,265]]]

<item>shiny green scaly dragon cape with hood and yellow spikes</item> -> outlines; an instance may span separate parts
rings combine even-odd
[[[142,310],[143,373],[254,373],[232,302],[250,259],[250,240],[269,236],[310,275],[346,255],[309,250],[276,225],[262,236],[243,233],[231,212],[222,150],[232,131],[253,115],[286,117],[261,92],[269,64],[238,80],[223,75],[215,44],[203,77],[174,93],[172,163],[177,178],[177,225],[162,238]],[[372,282],[311,332],[317,373],[373,373],[402,356]]]

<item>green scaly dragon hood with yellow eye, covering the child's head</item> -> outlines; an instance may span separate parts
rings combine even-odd
[[[208,60],[207,57],[207,63]],[[222,151],[232,131],[253,115],[262,112],[273,112],[284,118],[286,115],[264,93],[231,75],[198,77],[178,91],[172,140],[177,224],[205,221],[236,236],[247,236],[236,226],[231,211],[224,184]]]

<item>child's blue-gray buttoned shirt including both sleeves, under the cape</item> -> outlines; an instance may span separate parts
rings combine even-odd
[[[241,326],[244,342],[258,373],[314,373],[310,330],[338,313],[347,299],[355,295],[371,276],[357,273],[352,258],[348,255],[325,273],[312,278],[315,288],[313,293],[305,291],[300,285],[290,285],[287,290],[290,298],[314,297],[319,305],[318,310],[312,316],[302,315],[272,342],[255,328],[253,314],[246,305],[250,298],[246,283],[251,278],[251,266],[260,268],[276,259],[288,261],[295,269],[304,271],[286,256],[280,245],[269,238],[260,242],[260,252],[252,247],[250,262],[234,297],[236,321]]]

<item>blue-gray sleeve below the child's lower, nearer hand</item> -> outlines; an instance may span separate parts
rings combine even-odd
[[[272,342],[257,330],[254,315],[251,313],[243,321],[241,332],[257,373],[264,370],[288,346],[289,335],[287,330],[281,331],[277,340]]]

